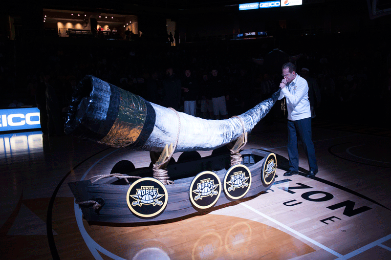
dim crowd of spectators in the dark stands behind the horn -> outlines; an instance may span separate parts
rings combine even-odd
[[[46,86],[52,88],[55,99],[52,102],[57,103],[55,109],[64,116],[74,87],[86,75],[165,105],[165,80],[174,77],[179,87],[189,86],[186,71],[190,71],[195,86],[191,98],[195,99],[195,116],[218,119],[215,113],[205,112],[204,108],[202,111],[201,103],[210,100],[211,95],[220,94],[226,99],[226,116],[233,116],[254,107],[278,89],[281,71],[274,73],[267,64],[257,61],[280,47],[288,56],[299,55],[295,61],[297,73],[300,75],[302,68],[306,68],[308,77],[319,87],[321,100],[317,100],[315,108],[318,118],[390,126],[389,40],[360,42],[357,39],[358,36],[324,36],[278,46],[272,40],[243,40],[179,46],[130,42],[36,43],[29,48],[18,43],[10,47],[3,41],[0,42],[0,105],[2,109],[40,106],[46,81]],[[171,75],[166,73],[170,68]],[[222,84],[218,89],[213,84],[213,70],[218,72]],[[178,93],[176,109],[179,111],[184,111],[185,99],[189,98],[185,88],[181,87]],[[268,118],[284,118],[284,109],[278,103]]]

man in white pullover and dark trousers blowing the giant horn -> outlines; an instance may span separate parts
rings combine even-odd
[[[311,108],[308,101],[308,84],[304,78],[296,74],[296,66],[292,63],[282,65],[282,82],[279,100],[286,98],[288,108],[288,155],[289,171],[284,176],[299,172],[299,152],[297,149],[298,135],[302,139],[304,152],[307,155],[309,173],[313,177],[318,173],[315,148],[311,132]]]

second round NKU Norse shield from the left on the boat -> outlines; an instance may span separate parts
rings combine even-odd
[[[190,201],[198,209],[207,209],[216,204],[221,193],[221,181],[210,171],[198,173],[190,185]]]

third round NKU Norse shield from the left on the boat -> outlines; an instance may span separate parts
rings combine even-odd
[[[251,187],[251,173],[247,166],[237,164],[224,177],[224,192],[231,199],[244,197]]]

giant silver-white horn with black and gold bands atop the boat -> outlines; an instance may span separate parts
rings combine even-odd
[[[206,120],[150,103],[93,76],[76,87],[65,133],[112,147],[162,152],[176,141],[175,152],[210,151],[237,140],[266,115],[280,90],[247,112],[225,120]],[[242,123],[243,125],[242,126]]]

